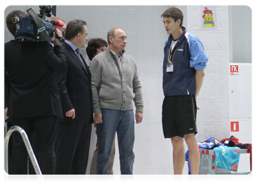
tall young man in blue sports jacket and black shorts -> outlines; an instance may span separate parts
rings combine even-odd
[[[182,27],[183,13],[179,8],[166,10],[163,24],[169,34],[164,46],[162,123],[165,138],[173,147],[174,181],[182,180],[185,164],[183,138],[189,148],[191,180],[197,180],[200,155],[195,134],[196,98],[203,83],[208,56],[200,40]]]

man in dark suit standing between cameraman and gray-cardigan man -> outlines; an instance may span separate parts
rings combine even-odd
[[[79,49],[88,40],[86,22],[68,22],[61,45],[68,71],[56,75],[64,119],[59,119],[56,141],[56,181],[84,181],[93,122],[91,73]]]

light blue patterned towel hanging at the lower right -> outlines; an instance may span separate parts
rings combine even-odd
[[[237,172],[240,148],[220,146],[215,147],[214,165],[218,168]]]

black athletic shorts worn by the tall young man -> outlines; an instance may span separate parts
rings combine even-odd
[[[184,137],[197,133],[197,104],[195,95],[165,97],[162,107],[163,135],[165,138]]]

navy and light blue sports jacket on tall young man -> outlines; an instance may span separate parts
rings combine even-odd
[[[172,35],[165,42],[163,59],[163,94],[165,96],[195,95],[195,71],[205,69],[208,55],[205,54],[202,42],[198,37],[186,33],[179,37],[171,52],[173,72],[166,72],[168,49],[171,46]]]

